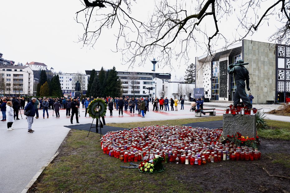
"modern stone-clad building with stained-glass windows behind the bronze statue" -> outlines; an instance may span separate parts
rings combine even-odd
[[[232,101],[236,85],[227,67],[239,59],[249,63],[245,67],[253,103],[285,102],[290,96],[290,46],[246,39],[215,51],[213,57],[196,57],[196,69],[200,69],[196,70],[196,88],[203,88],[210,100]]]

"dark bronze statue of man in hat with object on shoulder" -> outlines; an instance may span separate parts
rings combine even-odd
[[[250,90],[249,71],[244,67],[244,65],[247,65],[247,64],[249,63],[244,63],[244,60],[238,60],[236,63],[230,64],[227,67],[227,72],[229,74],[234,74],[234,78],[236,82],[236,92],[234,94],[234,106],[236,106],[237,103],[240,102],[240,99],[242,99],[243,103],[248,108],[252,108],[252,104],[245,90],[246,85],[247,85],[247,90]],[[246,85],[245,85],[245,80],[246,80]]]

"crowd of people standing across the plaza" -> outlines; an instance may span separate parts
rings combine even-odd
[[[34,118],[39,118],[39,110],[42,109],[42,117],[43,119],[49,118],[49,110],[53,110],[55,112],[55,117],[59,118],[59,110],[65,109],[66,116],[71,117],[70,121],[73,124],[73,117],[75,116],[76,122],[78,122],[78,117],[80,117],[80,106],[85,108],[85,117],[87,117],[87,108],[94,97],[91,98],[82,98],[79,97],[60,97],[60,98],[51,98],[51,97],[43,97],[43,98],[27,98],[24,97],[1,97],[0,98],[0,105],[1,105],[1,112],[2,112],[2,120],[7,122],[7,130],[11,131],[14,128],[12,124],[15,120],[19,120],[19,112],[21,114],[20,109],[24,109],[24,115],[28,122],[28,133],[33,133],[32,124]],[[148,98],[148,97],[139,97],[139,98],[129,98],[125,96],[122,97],[106,97],[106,98],[99,98],[105,101],[108,106],[108,110],[110,111],[110,116],[113,116],[113,110],[117,110],[119,112],[119,116],[123,115],[123,110],[125,112],[130,111],[130,115],[142,115],[142,118],[145,118],[146,112],[149,111],[149,103],[153,105],[153,111],[170,111],[169,103],[171,106],[171,111],[174,111],[173,106],[175,106],[175,111],[178,111],[178,103],[181,104],[180,109],[184,109],[184,99],[181,98],[178,100],[175,99],[167,99],[167,97],[155,97],[155,98]],[[26,104],[27,100],[27,104]],[[26,105],[25,105],[26,104]],[[202,108],[202,104],[201,104]],[[53,112],[53,114],[54,114]],[[22,114],[21,114],[22,117]]]

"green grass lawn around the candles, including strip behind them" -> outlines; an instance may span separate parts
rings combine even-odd
[[[148,125],[180,125],[191,122],[205,122],[222,120],[222,116],[179,119],[152,122],[133,122],[108,124],[110,126],[119,126],[124,128]],[[285,138],[289,139],[290,124],[279,121],[268,121],[268,125],[275,127],[274,131],[280,131],[280,134],[270,133],[265,135],[265,131],[259,131],[261,137]],[[283,128],[283,130],[281,129]],[[285,133],[283,133],[283,132]],[[283,134],[282,134],[283,133]],[[264,135],[264,136],[263,136]],[[219,162],[204,166],[185,167],[182,164],[166,164],[166,170],[157,174],[143,174],[138,169],[124,169],[119,166],[128,166],[128,163],[122,163],[119,159],[111,158],[103,154],[101,150],[100,135],[91,134],[87,137],[87,131],[71,130],[59,148],[60,154],[49,164],[28,191],[34,192],[220,192],[227,189],[227,192],[234,192],[238,187],[240,192],[249,192],[253,189],[247,187],[260,187],[260,184],[271,189],[287,190],[286,185],[280,184],[279,187],[263,184],[264,181],[273,184],[279,184],[279,179],[269,176],[261,168],[249,167],[250,163],[241,162]],[[280,154],[271,154],[274,158],[281,157]],[[289,168],[289,154],[283,155],[281,159],[262,159],[259,161],[263,167],[270,168],[269,164],[278,164],[277,167]],[[269,161],[270,160],[270,161]],[[272,165],[273,167],[273,165]],[[272,168],[271,167],[271,168]],[[270,169],[271,169],[270,168]],[[246,173],[255,173],[263,178],[262,181],[249,181],[245,175],[239,175],[236,172],[243,169]],[[277,168],[274,169],[274,172]],[[286,171],[281,169],[281,171]],[[272,173],[272,171],[271,171]],[[284,174],[285,175],[285,174]],[[230,180],[232,179],[232,180]],[[229,181],[230,180],[230,181]],[[275,181],[278,180],[278,181]],[[224,182],[223,182],[224,181]],[[245,182],[244,187],[240,187],[240,182]],[[229,185],[228,183],[232,183]],[[255,184],[251,184],[255,183]],[[218,186],[217,186],[218,185]],[[268,190],[269,190],[268,189]],[[258,191],[258,190],[257,190]]]

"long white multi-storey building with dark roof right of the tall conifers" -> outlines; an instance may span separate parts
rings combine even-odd
[[[96,72],[97,74],[99,74],[100,71]],[[150,94],[152,94],[152,92],[155,94],[153,87],[150,87],[151,93],[149,93],[147,89],[148,85],[153,85],[155,83],[155,81],[153,80],[153,76],[157,77],[157,79],[159,79],[161,82],[168,82],[171,79],[171,74],[126,71],[117,71],[117,73],[122,81],[123,97],[133,97],[134,95],[135,97],[149,97],[151,96]],[[91,70],[86,70],[86,74],[91,75]],[[156,92],[158,92],[161,88],[158,88]]]

